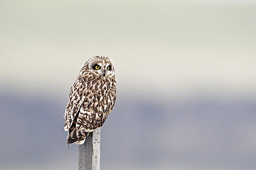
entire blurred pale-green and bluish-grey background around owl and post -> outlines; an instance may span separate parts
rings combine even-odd
[[[116,67],[101,169],[256,169],[256,1],[0,1],[0,169],[77,169],[71,84]]]

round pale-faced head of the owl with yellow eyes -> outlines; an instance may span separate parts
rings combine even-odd
[[[112,77],[115,73],[112,60],[105,56],[93,56],[84,64],[87,70],[95,75],[104,77]]]

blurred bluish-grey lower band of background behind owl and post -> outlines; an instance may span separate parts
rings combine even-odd
[[[77,145],[67,149],[63,130],[67,97],[52,95],[1,91],[1,169],[76,169]],[[102,127],[102,169],[254,169],[255,113],[255,97],[122,94]]]

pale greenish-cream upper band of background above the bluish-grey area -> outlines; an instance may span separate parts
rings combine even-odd
[[[123,91],[255,93],[256,6],[227,2],[1,1],[1,86],[63,93],[107,55]]]

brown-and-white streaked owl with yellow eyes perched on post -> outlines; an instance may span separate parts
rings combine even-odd
[[[71,86],[64,113],[66,143],[83,144],[104,124],[116,102],[116,76],[109,57],[94,56],[81,68]]]

